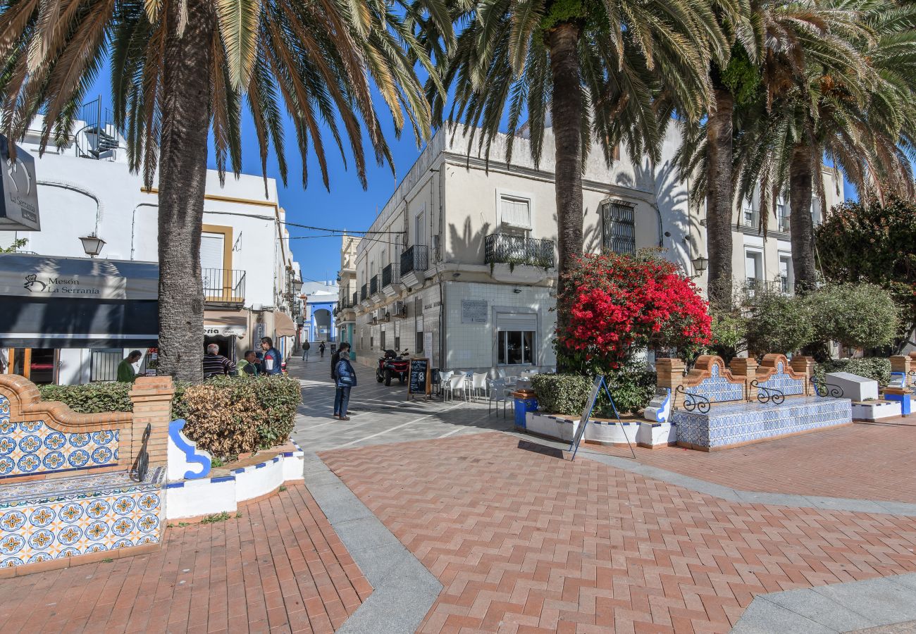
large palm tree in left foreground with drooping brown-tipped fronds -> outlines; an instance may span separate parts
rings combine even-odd
[[[350,146],[365,187],[363,126],[376,161],[391,164],[373,82],[398,134],[409,125],[418,143],[429,135],[431,110],[414,63],[428,71],[433,66],[415,31],[420,12],[432,21],[440,14],[437,2],[398,10],[381,0],[3,1],[5,134],[22,137],[43,112],[42,150],[52,136],[65,142],[107,56],[130,167],[142,170],[147,188],[158,167],[160,371],[202,378],[200,244],[209,130],[221,178],[227,158],[239,174],[246,97],[265,178],[272,145],[286,182],[285,107],[302,155],[303,186],[310,147],[329,186],[330,136],[344,160],[344,143]]]

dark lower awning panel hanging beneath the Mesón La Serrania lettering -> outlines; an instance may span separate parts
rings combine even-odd
[[[158,342],[155,300],[4,297],[0,303],[0,347],[120,348]]]

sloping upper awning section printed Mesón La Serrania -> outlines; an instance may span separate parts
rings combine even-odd
[[[156,300],[158,284],[159,267],[150,262],[0,254],[0,295]]]

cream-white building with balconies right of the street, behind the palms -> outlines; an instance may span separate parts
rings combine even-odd
[[[341,339],[353,328],[348,340],[370,363],[386,349],[408,348],[442,369],[550,368],[557,257],[551,129],[538,167],[524,137],[515,139],[511,164],[505,136],[488,160],[475,149],[469,154],[465,129],[440,130],[369,233],[358,243],[344,238]],[[584,248],[660,247],[704,288],[693,261],[707,255],[705,210],[691,208],[688,183],[678,179],[680,141],[672,124],[654,166],[618,152],[608,168],[592,153],[583,174]],[[843,200],[842,182],[828,170],[824,178],[829,207]],[[758,235],[758,216],[744,213],[736,205],[736,284],[769,281],[791,291],[787,221],[773,218],[768,235]],[[814,213],[819,220],[817,205]]]

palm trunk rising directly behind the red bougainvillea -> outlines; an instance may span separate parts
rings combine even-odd
[[[573,258],[582,255],[582,117],[583,95],[579,69],[580,27],[564,23],[551,29],[553,98],[551,119],[555,149],[555,190],[557,201],[557,250],[560,281],[557,292],[564,297],[563,273]],[[569,307],[557,306],[557,331],[569,325]]]

